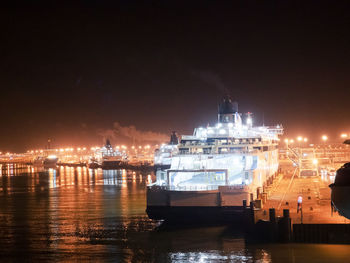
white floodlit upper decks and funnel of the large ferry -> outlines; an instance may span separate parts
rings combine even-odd
[[[218,189],[219,186],[261,187],[278,168],[280,125],[253,126],[251,113],[241,118],[226,99],[218,122],[182,136],[170,169],[157,172],[156,184],[173,190]]]

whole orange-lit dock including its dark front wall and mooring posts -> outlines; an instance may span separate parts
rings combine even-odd
[[[297,168],[281,165],[264,188],[261,207],[247,207],[248,240],[253,242],[350,244],[350,220],[331,205],[328,177],[298,176]],[[302,198],[299,204],[298,199]]]

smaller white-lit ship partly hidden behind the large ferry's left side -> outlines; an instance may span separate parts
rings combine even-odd
[[[176,132],[173,131],[170,135],[170,142],[168,144],[162,144],[159,149],[154,153],[154,169],[165,170],[171,166],[171,158],[178,153],[177,145],[179,139]]]

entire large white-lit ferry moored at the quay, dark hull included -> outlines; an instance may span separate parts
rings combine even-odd
[[[245,122],[229,97],[219,105],[215,126],[182,136],[170,169],[158,170],[147,187],[147,214],[165,221],[233,222],[243,218],[243,200],[259,198],[278,170],[281,125]]]

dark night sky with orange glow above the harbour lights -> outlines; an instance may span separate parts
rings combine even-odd
[[[350,132],[349,14],[347,1],[2,8],[0,150],[96,144],[116,121],[191,133],[226,91],[289,136]]]

